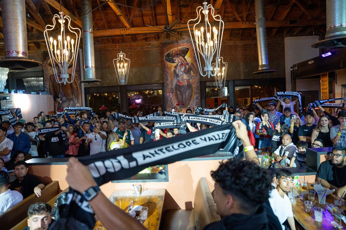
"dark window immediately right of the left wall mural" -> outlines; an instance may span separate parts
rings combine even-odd
[[[121,112],[119,92],[91,93],[88,97],[89,106],[95,112],[99,112],[103,105],[110,111]]]

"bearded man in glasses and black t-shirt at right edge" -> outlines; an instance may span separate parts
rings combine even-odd
[[[338,196],[346,191],[346,147],[334,146],[330,153],[331,160],[324,161],[317,170],[316,181],[330,189],[335,189]]]

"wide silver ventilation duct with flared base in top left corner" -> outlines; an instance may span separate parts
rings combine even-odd
[[[0,67],[26,70],[42,65],[28,60],[25,0],[1,0],[1,11],[5,59],[0,60]]]

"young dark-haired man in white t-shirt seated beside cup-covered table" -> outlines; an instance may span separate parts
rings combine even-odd
[[[292,230],[295,230],[292,204],[286,193],[291,191],[293,185],[293,173],[287,169],[280,169],[276,172],[277,186],[270,192],[269,203],[275,216],[279,219],[282,230],[286,220]]]

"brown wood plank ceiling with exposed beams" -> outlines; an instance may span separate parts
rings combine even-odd
[[[81,28],[81,0],[61,0],[61,3],[62,11],[72,18],[74,26]],[[209,3],[225,22],[224,41],[256,39],[254,0]],[[29,50],[44,49],[44,27],[52,24],[53,15],[60,11],[60,1],[25,0],[25,4]],[[179,21],[172,32],[189,38],[186,24],[196,17],[198,6],[202,6],[199,0],[92,0],[95,45],[180,40],[170,33],[163,36],[164,27],[176,20]],[[322,36],[326,29],[325,0],[265,0],[265,15],[268,39]],[[0,21],[2,46],[1,17]]]

